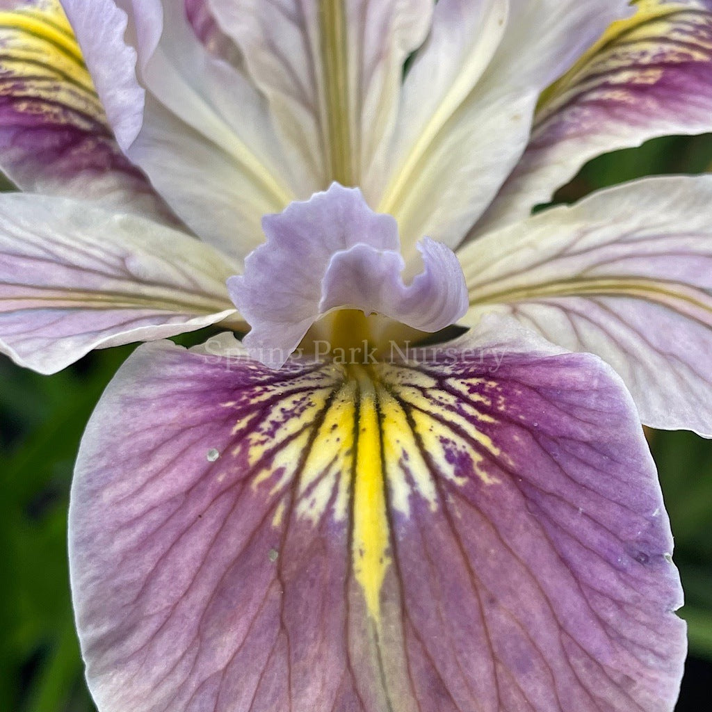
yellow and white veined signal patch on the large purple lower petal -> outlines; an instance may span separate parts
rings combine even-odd
[[[239,463],[252,491],[274,503],[275,530],[335,528],[350,542],[375,646],[395,604],[384,591],[398,576],[399,528],[422,508],[439,511],[443,487],[498,486],[488,463],[509,464],[488,434],[505,407],[496,382],[459,383],[415,364],[332,364],[253,387],[249,404],[226,404],[244,413],[220,461],[228,478]]]

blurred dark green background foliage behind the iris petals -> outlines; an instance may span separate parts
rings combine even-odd
[[[557,201],[643,175],[711,167],[712,137],[654,140],[591,162]],[[52,377],[0,356],[0,711],[94,710],[70,605],[68,493],[83,426],[131,350],[95,352]],[[686,590],[681,614],[690,625],[691,656],[677,711],[699,712],[709,708],[712,689],[712,442],[653,433],[651,445]]]

